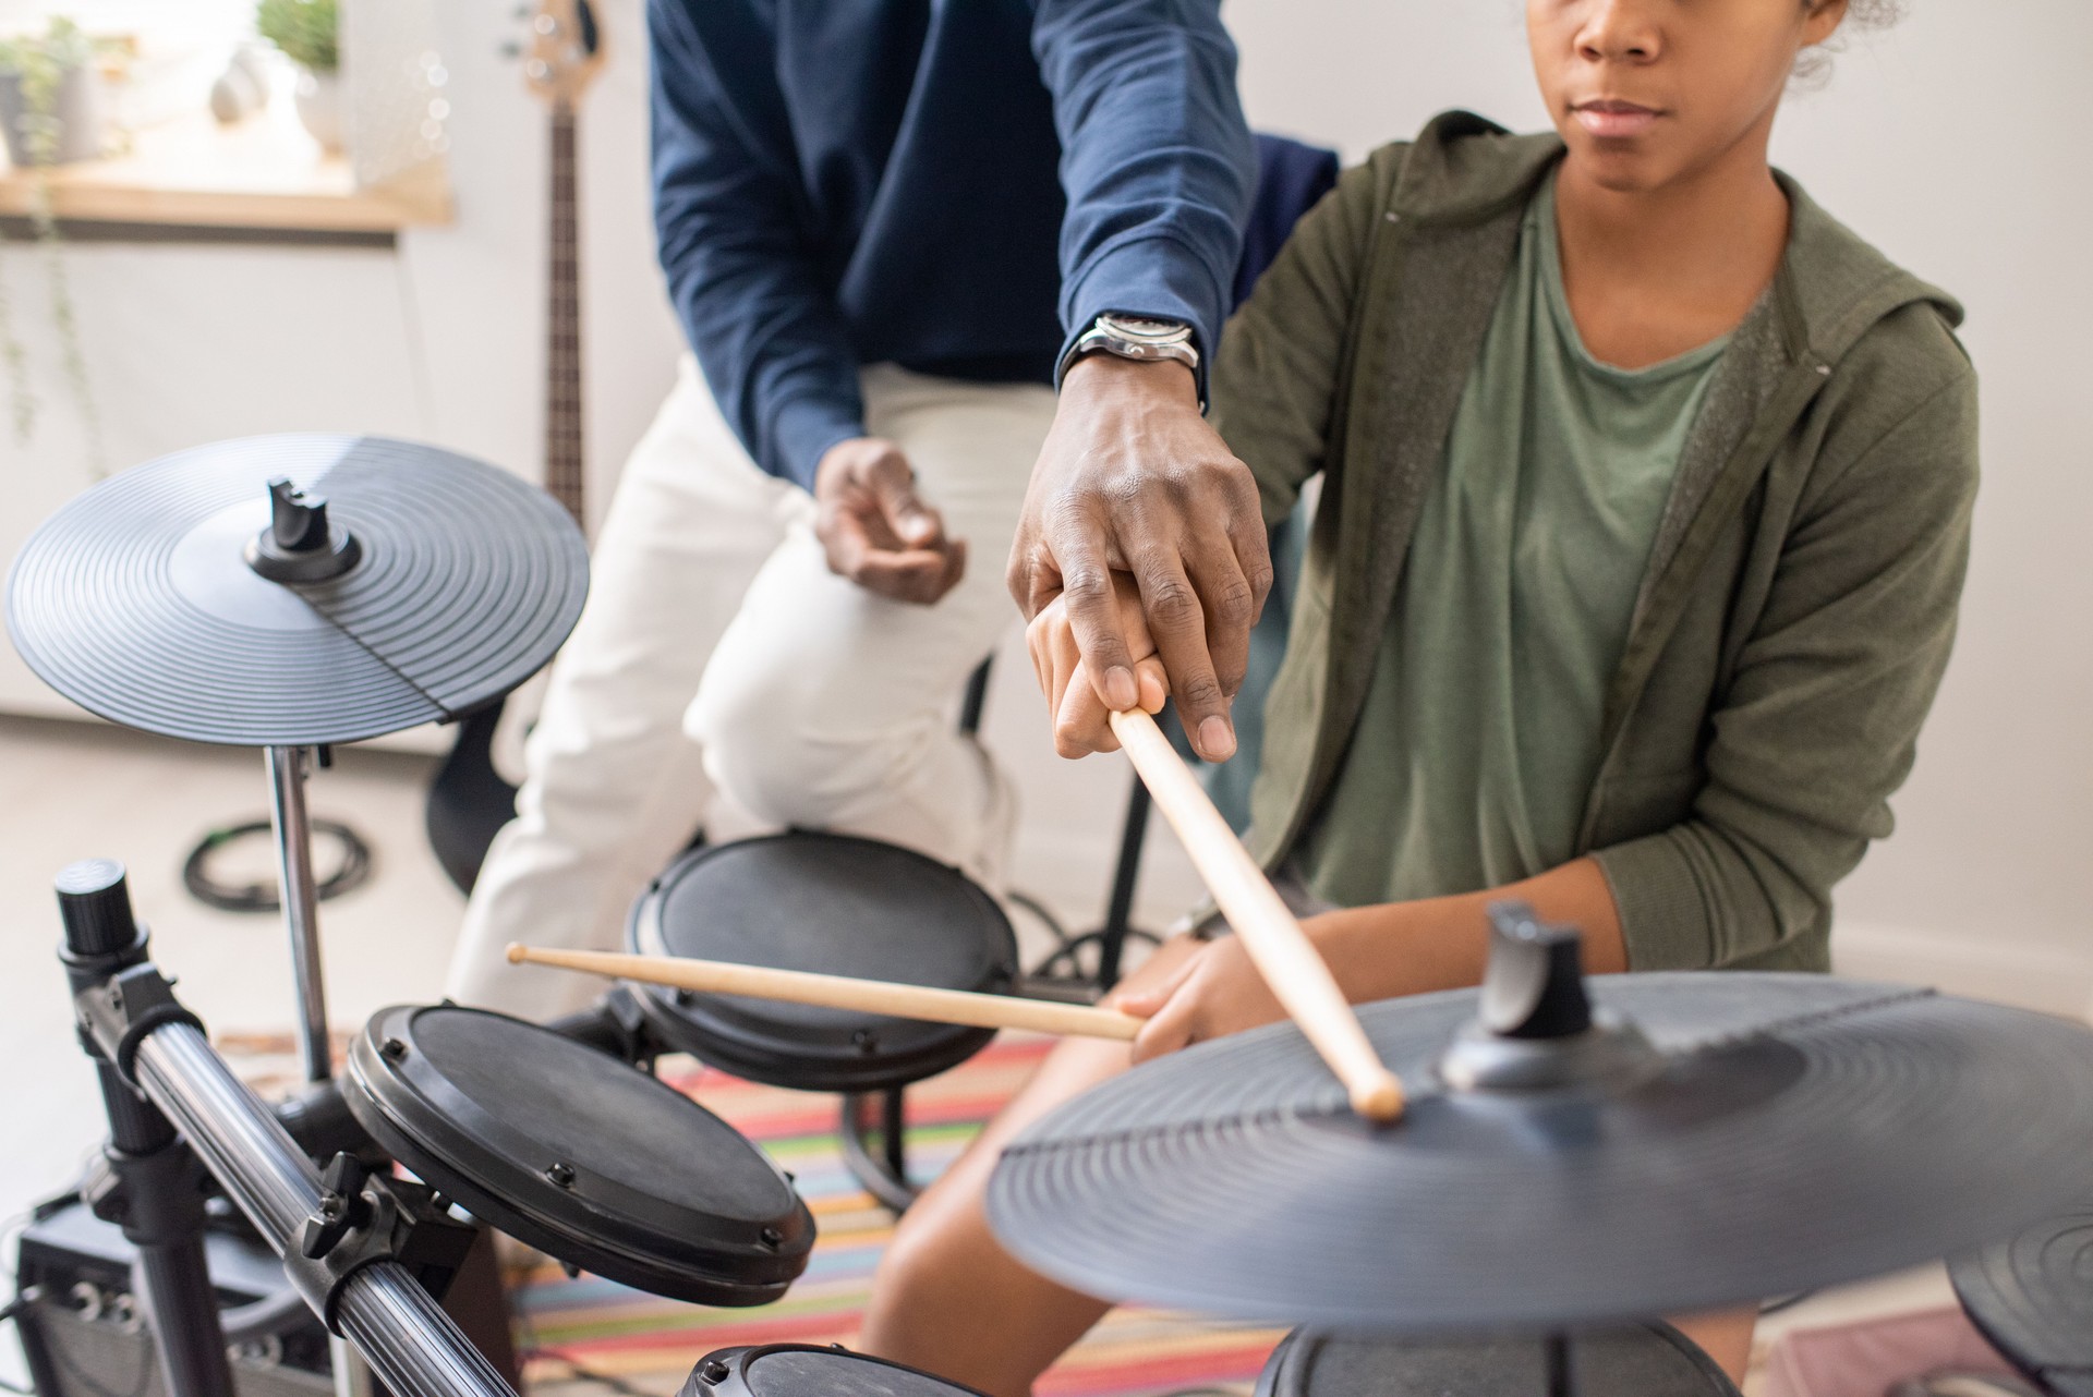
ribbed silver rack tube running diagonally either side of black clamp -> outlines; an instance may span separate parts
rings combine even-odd
[[[153,1029],[138,1044],[138,1081],[276,1255],[295,1246],[320,1205],[320,1173],[203,1033],[184,1023]],[[398,1261],[350,1276],[337,1313],[396,1397],[515,1397]]]

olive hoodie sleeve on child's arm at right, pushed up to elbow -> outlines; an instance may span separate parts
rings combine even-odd
[[[1798,512],[1689,818],[1595,855],[1633,970],[1737,964],[1827,926],[1831,887],[1890,832],[1955,638],[1976,450],[1963,368]]]

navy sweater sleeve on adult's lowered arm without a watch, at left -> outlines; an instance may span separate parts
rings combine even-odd
[[[779,148],[777,132],[749,130],[718,98],[714,59],[766,71],[735,63],[762,59],[735,10],[707,10],[718,33],[701,44],[684,0],[647,4],[655,232],[670,303],[720,412],[758,466],[812,489],[823,452],[864,435],[858,362],[797,234],[789,138]]]

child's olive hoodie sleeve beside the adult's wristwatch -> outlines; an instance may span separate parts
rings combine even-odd
[[[1323,471],[1373,222],[1400,146],[1344,171],[1235,312],[1214,362],[1214,429],[1258,479],[1264,523]]]

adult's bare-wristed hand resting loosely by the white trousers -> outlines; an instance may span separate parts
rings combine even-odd
[[[915,491],[900,448],[852,437],[814,468],[814,533],[829,569],[867,592],[929,606],[967,571],[967,542],[944,535],[944,519]]]

